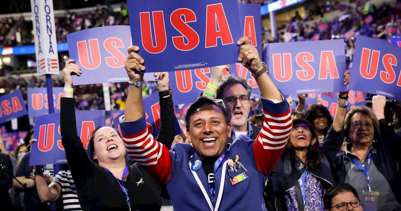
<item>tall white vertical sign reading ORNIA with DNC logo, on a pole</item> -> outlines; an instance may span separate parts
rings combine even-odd
[[[60,70],[53,1],[30,0],[30,5],[38,76],[58,75]]]

